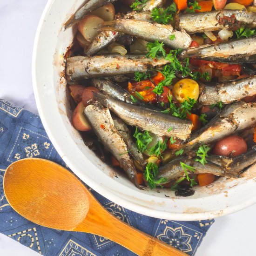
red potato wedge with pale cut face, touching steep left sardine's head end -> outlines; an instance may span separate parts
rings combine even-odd
[[[72,124],[74,128],[81,132],[87,132],[92,129],[83,115],[84,108],[83,102],[78,103],[72,115]]]

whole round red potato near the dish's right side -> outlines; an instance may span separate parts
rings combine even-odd
[[[230,135],[220,141],[217,141],[213,152],[215,155],[235,157],[242,155],[247,151],[245,140],[237,135]]]

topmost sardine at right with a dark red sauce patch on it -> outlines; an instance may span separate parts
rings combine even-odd
[[[235,17],[235,22],[225,22],[225,17],[230,16]],[[195,34],[223,28],[236,30],[246,25],[256,27],[256,13],[223,9],[212,12],[176,15],[175,29],[184,29],[188,34]]]

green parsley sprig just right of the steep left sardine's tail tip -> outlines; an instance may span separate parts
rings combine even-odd
[[[155,177],[157,176],[157,174],[158,174],[157,165],[155,163],[149,162],[144,171],[144,177],[148,182],[148,186],[150,187],[150,189],[155,189],[156,186],[162,187],[162,185],[160,184],[167,182],[167,179],[164,177],[161,177],[160,179],[156,180]]]

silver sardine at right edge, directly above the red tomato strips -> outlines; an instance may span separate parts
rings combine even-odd
[[[256,36],[221,42],[215,45],[190,47],[181,58],[195,57],[207,61],[256,63]]]

